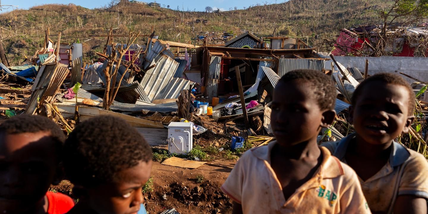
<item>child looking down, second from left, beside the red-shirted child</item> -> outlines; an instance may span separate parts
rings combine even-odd
[[[88,119],[65,141],[65,174],[79,202],[68,214],[146,213],[142,188],[150,178],[152,149],[125,120]]]

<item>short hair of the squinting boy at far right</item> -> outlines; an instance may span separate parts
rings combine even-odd
[[[352,94],[351,103],[353,106],[355,106],[357,102],[357,98],[361,95],[361,91],[363,91],[364,86],[376,81],[383,82],[386,84],[404,86],[409,94],[409,101],[407,104],[409,109],[408,115],[409,116],[413,115],[413,110],[415,109],[415,98],[416,98],[415,92],[413,92],[412,87],[410,86],[409,83],[407,83],[406,80],[404,80],[403,77],[394,73],[378,73],[367,78],[362,83],[360,83],[360,85],[357,86],[354,93]]]

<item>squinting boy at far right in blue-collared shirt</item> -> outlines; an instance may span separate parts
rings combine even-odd
[[[357,172],[373,213],[427,213],[427,160],[395,141],[409,131],[414,107],[415,93],[406,80],[375,74],[352,96],[348,121],[356,132],[322,144]]]

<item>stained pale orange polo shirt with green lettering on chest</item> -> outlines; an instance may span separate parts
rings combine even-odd
[[[320,147],[322,163],[314,176],[285,199],[270,166],[268,146],[248,150],[221,187],[246,214],[260,213],[370,213],[354,170]]]

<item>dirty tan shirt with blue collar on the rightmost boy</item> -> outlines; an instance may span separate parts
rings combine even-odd
[[[355,137],[355,133],[349,134],[340,141],[326,142],[321,146],[346,163],[346,150]],[[427,178],[428,163],[425,157],[394,141],[386,165],[366,181],[359,180],[372,212],[392,213],[395,199],[400,195],[428,199]]]

